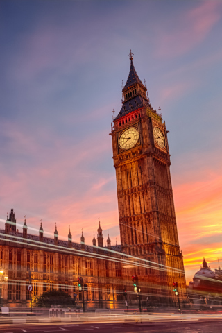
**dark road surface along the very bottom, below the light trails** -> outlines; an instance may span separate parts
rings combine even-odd
[[[46,332],[84,332],[84,333],[222,333],[222,320],[177,321],[167,323],[33,323],[25,325],[1,324],[3,333],[46,333]]]

